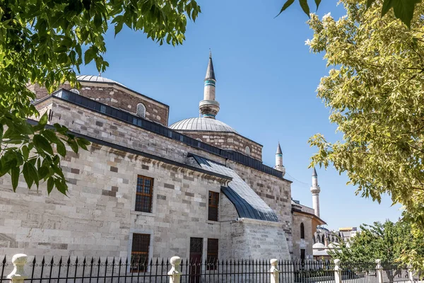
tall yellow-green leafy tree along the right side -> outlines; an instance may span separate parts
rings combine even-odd
[[[342,0],[347,15],[335,21],[312,15],[314,31],[307,41],[312,52],[323,52],[329,75],[317,88],[330,108],[330,121],[343,134],[317,146],[312,164],[346,172],[357,194],[381,200],[391,195],[404,204],[405,221],[414,236],[424,231],[424,4],[416,5],[411,29],[389,11],[379,17],[379,4]],[[424,268],[424,253],[404,260]]]

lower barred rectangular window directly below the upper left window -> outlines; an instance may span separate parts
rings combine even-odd
[[[133,233],[130,272],[146,272],[148,267],[148,248],[150,235]]]

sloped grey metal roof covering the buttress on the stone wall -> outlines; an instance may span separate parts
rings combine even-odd
[[[191,156],[204,170],[232,178],[228,187],[222,187],[221,191],[234,204],[240,218],[278,222],[278,217],[271,207],[235,171],[201,156],[194,154]]]

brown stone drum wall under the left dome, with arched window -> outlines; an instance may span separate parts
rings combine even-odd
[[[80,81],[80,83],[81,88],[78,91],[81,96],[93,98],[93,100],[100,103],[131,112],[134,115],[136,114],[137,104],[143,103],[146,107],[147,120],[167,126],[169,107],[163,103],[131,91],[129,88],[119,86],[117,83],[95,83],[88,81]],[[59,88],[70,90],[71,86],[69,83],[65,83]],[[33,91],[38,99],[49,95],[46,88],[37,85],[30,85],[28,89]]]

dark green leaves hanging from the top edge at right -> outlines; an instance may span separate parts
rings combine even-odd
[[[319,4],[321,4],[321,0],[314,0],[315,6],[319,7]],[[364,0],[365,1],[365,0]],[[372,4],[375,2],[381,2],[377,0],[367,0],[367,8],[370,8]],[[394,16],[396,18],[399,18],[403,23],[405,23],[408,28],[411,26],[411,20],[413,18],[413,13],[415,10],[415,5],[422,2],[422,0],[384,0],[381,3],[381,16],[386,15],[386,13],[393,8]],[[287,0],[285,1],[283,7],[281,7],[280,15],[285,11],[286,8],[290,7],[293,3],[295,3],[295,0]],[[300,7],[302,7],[302,10],[307,14],[307,16],[310,16],[310,6],[307,4],[307,0],[299,0]]]

